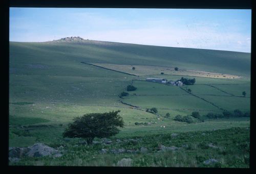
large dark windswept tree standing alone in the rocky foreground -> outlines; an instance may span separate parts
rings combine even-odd
[[[105,113],[85,114],[81,117],[75,117],[73,123],[63,132],[63,137],[84,138],[88,144],[91,144],[95,137],[106,138],[116,135],[123,128],[124,122],[118,115],[118,111]]]

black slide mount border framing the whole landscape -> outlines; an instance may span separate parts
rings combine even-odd
[[[170,172],[189,172],[189,173],[215,173],[219,171],[223,172],[252,172],[254,168],[253,159],[254,154],[254,140],[252,137],[254,134],[254,118],[255,107],[253,103],[253,98],[255,94],[252,89],[256,89],[254,86],[255,77],[255,66],[254,60],[251,59],[251,128],[250,128],[250,168],[170,168],[170,167],[60,167],[60,166],[8,166],[8,131],[9,131],[9,8],[10,7],[48,7],[48,8],[180,8],[180,9],[252,9],[252,42],[251,42],[251,57],[255,58],[254,49],[255,48],[255,2],[251,0],[167,0],[167,1],[111,1],[111,0],[101,0],[101,1],[79,1],[79,0],[10,0],[3,1],[1,4],[1,17],[4,18],[2,21],[1,30],[2,31],[2,59],[3,62],[1,68],[2,83],[1,87],[2,94],[4,97],[4,103],[2,108],[4,108],[4,114],[2,114],[2,121],[4,119],[4,127],[2,126],[5,135],[5,140],[3,139],[3,144],[5,148],[3,149],[4,155],[2,155],[4,166],[7,168],[8,172],[20,172],[20,171],[31,171],[33,173],[45,173],[47,171],[53,172],[69,172],[74,173],[76,171],[81,171],[83,173],[131,173],[131,172],[154,172],[154,173],[170,173]],[[4,54],[3,54],[4,53]],[[253,151],[253,152],[252,152]]]

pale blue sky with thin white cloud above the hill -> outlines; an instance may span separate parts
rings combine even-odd
[[[70,36],[250,53],[251,10],[10,8],[10,41]]]

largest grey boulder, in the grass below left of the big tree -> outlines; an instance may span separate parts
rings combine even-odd
[[[29,148],[29,152],[26,154],[26,156],[29,157],[42,157],[59,153],[59,151],[55,150],[55,148],[49,147],[44,143],[36,143],[27,148]]]

